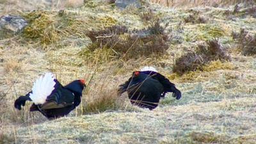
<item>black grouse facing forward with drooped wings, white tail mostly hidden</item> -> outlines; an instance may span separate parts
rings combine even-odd
[[[159,74],[154,67],[144,67],[132,73],[124,84],[118,89],[118,95],[127,92],[132,104],[150,110],[157,107],[159,99],[166,93],[180,99],[181,92],[166,77]]]

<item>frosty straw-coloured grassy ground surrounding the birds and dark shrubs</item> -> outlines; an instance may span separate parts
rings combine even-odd
[[[92,42],[87,31],[116,24],[129,30],[147,28],[141,13],[148,9],[161,25],[169,23],[170,48],[165,54],[122,60],[109,49],[88,51]],[[113,4],[86,1],[64,13],[19,12],[30,20],[29,27],[0,40],[0,143],[254,143],[256,60],[242,54],[231,33],[245,28],[254,35],[256,19],[253,13],[233,10],[234,5],[173,9],[149,4],[142,10],[120,11]],[[213,61],[203,71],[173,74],[176,58],[212,38],[226,47],[232,61]],[[118,84],[146,65],[172,79],[182,99],[168,95],[148,111],[131,106],[126,94],[117,97]],[[22,111],[13,107],[14,100],[47,71],[62,84],[86,79],[83,102],[65,118],[49,121],[30,113],[31,103]]]

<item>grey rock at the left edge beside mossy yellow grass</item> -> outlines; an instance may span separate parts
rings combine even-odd
[[[13,36],[28,25],[28,22],[20,16],[3,15],[0,17],[0,39]]]

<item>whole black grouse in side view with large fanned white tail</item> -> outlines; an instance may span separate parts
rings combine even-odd
[[[49,119],[59,118],[80,104],[84,88],[84,79],[62,86],[51,72],[47,72],[36,79],[31,92],[15,100],[14,106],[20,110],[29,100],[33,102],[30,111],[40,111]]]

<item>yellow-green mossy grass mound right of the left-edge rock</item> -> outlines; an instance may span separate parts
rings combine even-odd
[[[59,12],[34,11],[24,13],[29,25],[24,28],[24,38],[38,40],[42,45],[55,43],[68,36],[83,36],[81,28],[85,29],[81,20],[76,20],[73,13],[65,10]]]

